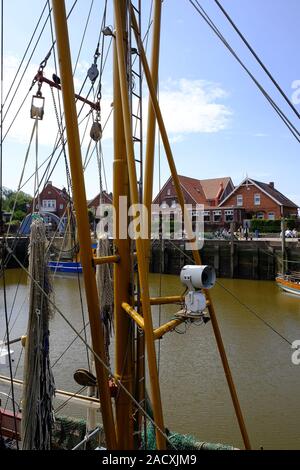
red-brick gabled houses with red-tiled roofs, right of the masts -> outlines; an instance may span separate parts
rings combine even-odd
[[[234,187],[230,177],[198,180],[179,176],[186,204],[204,206],[206,227],[229,227],[231,222],[243,225],[252,218],[275,220],[297,217],[297,205],[275,188],[273,182],[263,183],[245,178]],[[169,178],[153,201],[164,209],[176,210],[178,200],[172,178]]]

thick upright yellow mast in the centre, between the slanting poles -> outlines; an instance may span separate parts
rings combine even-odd
[[[119,0],[122,36],[126,37],[127,0]],[[124,55],[125,55],[124,51]],[[124,56],[125,60],[125,56]],[[132,394],[132,321],[124,314],[122,302],[130,303],[130,240],[119,237],[120,196],[126,196],[129,204],[129,181],[126,144],[123,125],[123,110],[116,44],[114,43],[114,167],[113,204],[115,208],[114,251],[120,262],[114,266],[114,326],[115,326],[115,375]],[[126,210],[128,207],[126,207]],[[124,217],[124,214],[122,214]],[[128,217],[126,217],[128,222]],[[126,224],[127,226],[127,224]],[[116,398],[116,430],[119,449],[133,449],[133,410],[130,397],[120,389]]]

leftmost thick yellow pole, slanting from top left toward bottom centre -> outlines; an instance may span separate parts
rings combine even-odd
[[[70,44],[67,29],[66,8],[64,0],[52,0],[53,15],[56,31],[57,50],[62,84],[62,95],[65,111],[70,168],[73,183],[73,198],[76,211],[78,239],[80,245],[81,264],[86,291],[89,321],[93,350],[103,363],[106,363],[103,329],[100,320],[100,308],[93,267],[93,253],[87,213],[78,121],[75,106],[74,84],[72,79],[72,64]],[[99,389],[103,426],[108,449],[116,449],[116,433],[112,411],[110,390],[108,386],[108,371],[97,357],[95,368]]]

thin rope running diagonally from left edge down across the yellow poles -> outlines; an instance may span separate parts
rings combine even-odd
[[[39,285],[39,283],[30,275],[29,271],[25,268],[25,266],[23,265],[23,263],[21,263],[21,261],[16,257],[16,255],[14,254],[14,252],[9,248],[9,246],[6,247],[6,249],[10,252],[11,256],[14,258],[14,260],[17,262],[17,264],[20,266],[21,269],[23,269],[23,271],[30,277],[30,279],[32,280],[32,282],[37,286],[37,288],[41,291],[41,293],[44,294],[44,296],[47,298],[47,300],[49,301],[49,303],[53,306],[53,308],[57,311],[57,313],[63,318],[63,320],[67,323],[67,325],[71,328],[71,330],[77,335],[77,337],[84,343],[86,344],[85,342],[85,339],[83,338],[83,336],[76,330],[76,328],[72,325],[72,323],[70,322],[70,320],[68,320],[68,318],[66,317],[66,315],[60,310],[59,307],[57,307],[57,305],[53,302],[53,300],[49,297],[49,295],[47,294],[47,292],[45,292],[45,290]],[[131,401],[137,406],[137,408],[144,414],[144,416],[151,422],[151,424],[155,427],[155,429],[162,435],[164,436],[164,438],[166,439],[166,441],[172,446],[172,448],[174,450],[176,450],[176,447],[174,446],[174,444],[170,441],[169,437],[167,436],[166,432],[162,429],[159,428],[159,426],[157,426],[157,424],[155,423],[155,421],[153,420],[153,418],[149,415],[149,413],[147,413],[147,411],[145,411],[143,409],[143,407],[136,401],[136,399],[132,396],[132,394],[127,390],[127,388],[122,384],[122,382],[120,382],[120,380],[113,374],[113,372],[111,371],[111,369],[107,366],[107,364],[101,359],[101,357],[93,350],[93,348],[89,345],[89,344],[86,344],[86,346],[88,347],[89,351],[94,355],[95,359],[99,361],[99,363],[102,365],[102,367],[104,367],[108,373],[110,374],[111,377],[114,378],[116,384],[122,388],[122,390],[124,391],[124,393],[126,393],[126,395],[131,399]]]

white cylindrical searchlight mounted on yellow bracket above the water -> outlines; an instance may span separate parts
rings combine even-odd
[[[180,280],[188,293],[185,296],[185,308],[188,315],[199,316],[206,308],[206,298],[202,289],[211,289],[216,283],[216,272],[212,266],[184,266]]]

